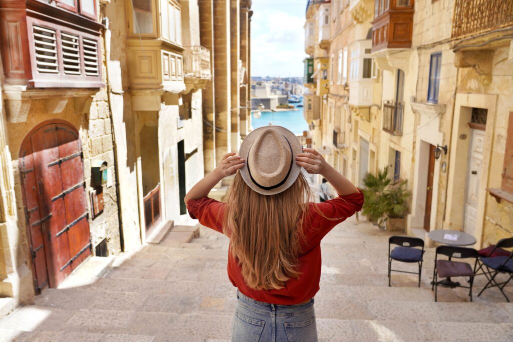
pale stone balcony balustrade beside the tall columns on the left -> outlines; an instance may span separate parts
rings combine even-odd
[[[184,78],[210,80],[210,50],[200,45],[185,47],[184,51]]]

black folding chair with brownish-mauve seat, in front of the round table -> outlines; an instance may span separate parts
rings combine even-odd
[[[438,255],[442,254],[449,258],[449,260],[440,260],[438,259]],[[450,277],[469,277],[469,286],[463,286],[459,283],[452,283],[451,287],[462,287],[465,289],[470,289],[468,295],[470,296],[470,301],[472,301],[472,284],[474,281],[474,276],[476,275],[476,268],[478,265],[478,251],[473,248],[466,247],[454,247],[454,246],[438,246],[435,254],[435,270],[433,271],[433,282],[431,286],[431,291],[435,290],[435,301],[438,301],[438,285],[441,284],[441,281],[438,281],[438,277],[442,278],[450,278]],[[452,261],[452,258],[475,258],[476,261],[474,263],[474,267],[467,263],[463,263],[461,261]],[[442,280],[443,281],[443,280]],[[442,283],[443,285],[443,283]]]

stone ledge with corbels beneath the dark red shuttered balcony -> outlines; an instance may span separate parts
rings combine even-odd
[[[77,114],[88,113],[98,88],[28,88],[27,86],[4,86],[4,99],[8,123],[24,123],[32,100],[44,100],[49,114],[60,114],[71,98]]]

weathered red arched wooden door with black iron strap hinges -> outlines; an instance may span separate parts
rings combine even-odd
[[[56,287],[91,254],[84,163],[78,132],[55,120],[38,125],[19,153],[36,292]]]

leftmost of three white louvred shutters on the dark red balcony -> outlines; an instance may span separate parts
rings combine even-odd
[[[42,26],[32,26],[37,71],[58,73],[56,32]]]

